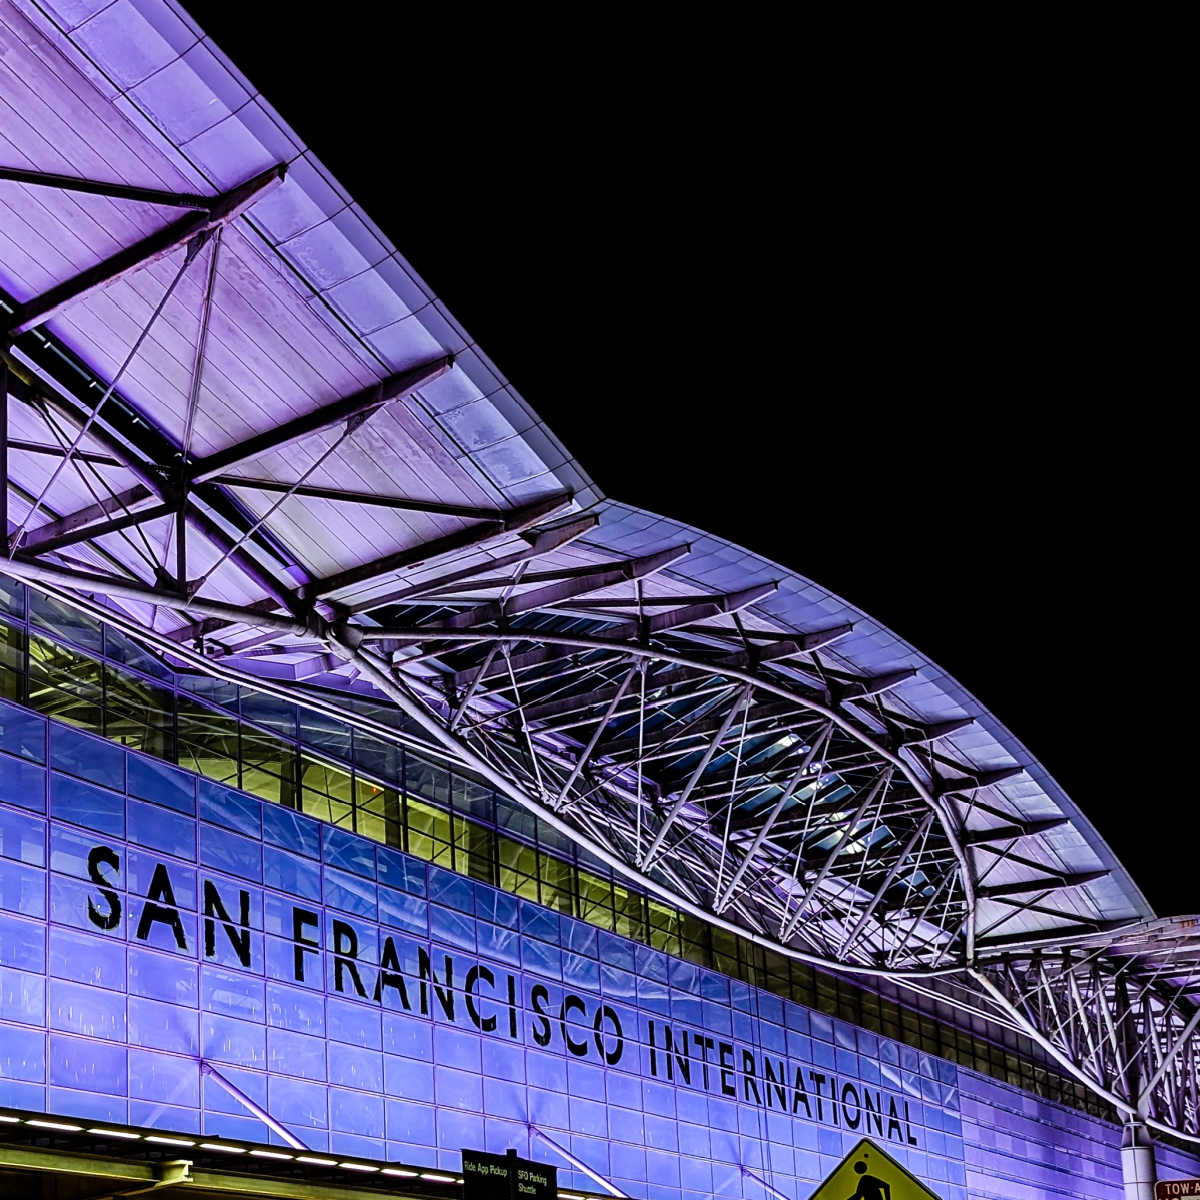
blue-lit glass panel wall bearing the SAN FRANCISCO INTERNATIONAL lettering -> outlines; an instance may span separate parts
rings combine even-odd
[[[866,1135],[946,1200],[1120,1196],[1082,1114],[53,722],[43,766],[44,728],[0,706],[0,1104],[270,1138],[206,1060],[322,1152],[594,1189],[534,1122],[709,1200],[808,1195]]]

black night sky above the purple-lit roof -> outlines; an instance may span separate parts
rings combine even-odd
[[[1183,221],[1144,103],[762,30],[514,59],[190,8],[607,494],[892,626],[1200,907]]]

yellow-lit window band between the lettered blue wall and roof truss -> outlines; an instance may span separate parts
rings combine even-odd
[[[1026,1038],[882,983],[869,990],[630,888],[490,787],[361,728],[208,676],[0,578],[0,696],[816,1012],[1111,1117]],[[395,710],[354,701],[404,731]]]

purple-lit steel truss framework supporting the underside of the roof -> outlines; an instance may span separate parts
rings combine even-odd
[[[284,178],[202,196],[0,170],[6,187],[188,214],[43,294],[0,296],[0,571],[348,720],[347,697],[388,697],[652,894],[780,953],[940,990],[1027,1032],[1132,1120],[1200,1141],[1195,923],[1097,912],[1086,889],[1110,868],[1046,848],[1070,816],[1021,805],[1008,785],[1026,764],[960,756],[976,718],[922,718],[900,698],[916,668],[854,671],[838,653],[851,623],[785,628],[761,607],[775,581],[697,592],[673,570],[686,541],[606,553],[569,491],[504,506],[314,481],[450,353],[194,450],[223,232]],[[156,263],[166,294],[103,378],[52,324]],[[180,433],[119,388],[196,272]],[[246,474],[281,452],[305,464],[294,478]],[[307,503],[448,524],[322,572],[283,520]]]

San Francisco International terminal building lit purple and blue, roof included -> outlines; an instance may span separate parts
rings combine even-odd
[[[600,494],[178,5],[0,0],[0,349],[4,1194],[1200,1176],[1200,920]]]

